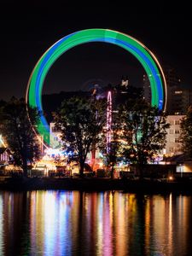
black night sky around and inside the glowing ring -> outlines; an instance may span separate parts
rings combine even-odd
[[[168,1],[166,1],[168,2]],[[192,86],[192,15],[183,1],[9,1],[0,2],[0,99],[25,96],[32,68],[60,38],[86,28],[109,28],[137,38],[163,66]],[[128,75],[141,84],[143,68],[124,49],[91,43],[69,50],[51,67],[44,93],[117,84]]]

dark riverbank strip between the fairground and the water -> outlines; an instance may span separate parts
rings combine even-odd
[[[192,181],[160,182],[157,180],[131,180],[109,178],[55,178],[17,177],[7,178],[0,183],[0,190],[27,191],[42,189],[62,189],[81,191],[122,190],[131,193],[189,193],[192,194]]]

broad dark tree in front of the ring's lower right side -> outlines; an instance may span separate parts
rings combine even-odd
[[[125,158],[137,164],[140,175],[143,165],[153,160],[154,154],[166,144],[166,113],[151,107],[143,100],[129,101],[121,108],[122,138]]]

